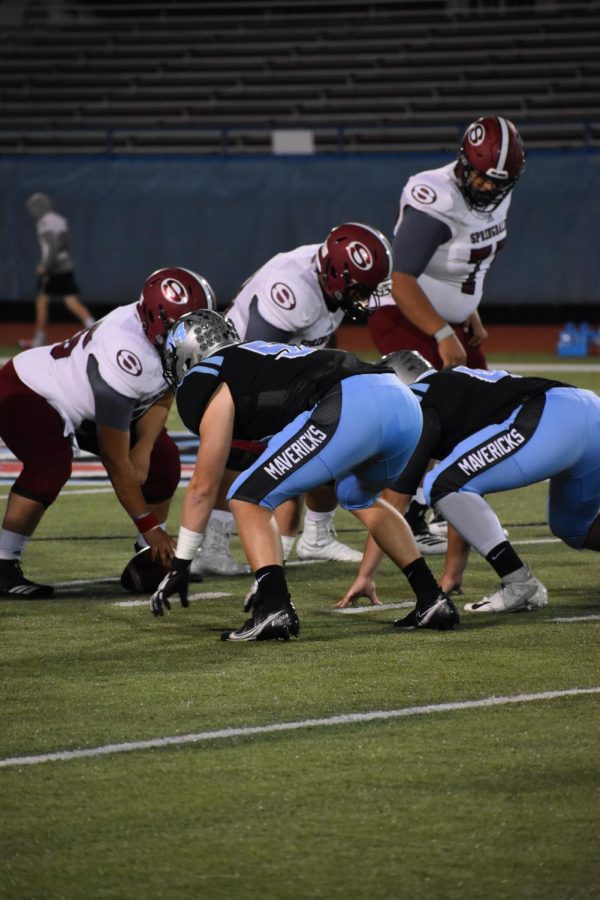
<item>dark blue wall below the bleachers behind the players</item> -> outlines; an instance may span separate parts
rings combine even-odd
[[[225,305],[274,253],[317,243],[340,222],[391,237],[408,176],[452,158],[1,157],[0,298],[33,297],[38,249],[24,201],[34,191],[69,219],[86,302],[131,302],[151,271],[179,265],[204,274]],[[600,152],[531,151],[485,304],[597,312],[599,293]]]

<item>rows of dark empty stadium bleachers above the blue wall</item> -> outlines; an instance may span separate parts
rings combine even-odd
[[[600,142],[600,0],[0,2],[0,152],[447,150],[485,111]]]

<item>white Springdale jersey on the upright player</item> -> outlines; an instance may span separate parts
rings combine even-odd
[[[406,206],[449,227],[452,237],[437,248],[417,280],[436,312],[456,324],[464,322],[479,306],[485,276],[506,239],[511,195],[490,212],[473,211],[458,186],[455,165],[452,162],[408,179],[394,233]],[[393,303],[391,295],[380,300],[381,305]]]

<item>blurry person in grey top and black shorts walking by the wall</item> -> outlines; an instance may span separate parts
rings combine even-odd
[[[52,299],[62,298],[84,328],[90,328],[95,320],[78,296],[67,220],[53,209],[47,194],[32,194],[25,201],[25,207],[35,220],[41,255],[35,270],[35,332],[32,340],[21,340],[19,346],[41,347],[46,342],[48,306]]]

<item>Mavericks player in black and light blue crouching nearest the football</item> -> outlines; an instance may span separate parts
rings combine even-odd
[[[253,614],[228,641],[298,636],[300,625],[283,570],[273,510],[290,497],[333,481],[351,510],[408,578],[417,624],[447,630],[458,621],[420,557],[402,516],[381,502],[421,432],[419,403],[384,366],[342,350],[285,343],[242,343],[235,326],[203,310],[184,316],[167,337],[166,376],[177,408],[200,438],[181,516],[172,571],[152,595],[163,615],[179,594],[187,604],[189,567],[214,505],[232,439],[266,441],[264,452],[233,482],[228,499],[258,589]]]

